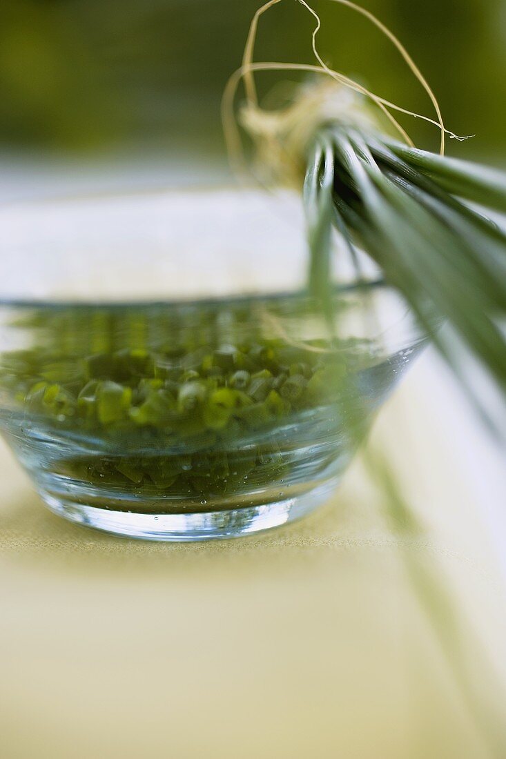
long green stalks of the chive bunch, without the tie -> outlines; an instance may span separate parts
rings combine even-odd
[[[506,235],[470,203],[506,212],[506,175],[435,156],[377,132],[327,124],[315,139],[304,203],[309,287],[330,304],[330,231],[358,244],[431,329],[444,317],[506,392]]]

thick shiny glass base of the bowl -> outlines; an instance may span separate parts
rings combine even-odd
[[[300,496],[242,509],[193,514],[120,512],[76,504],[44,491],[40,496],[52,512],[84,527],[140,540],[191,542],[241,537],[280,527],[314,511],[336,485],[333,478]]]

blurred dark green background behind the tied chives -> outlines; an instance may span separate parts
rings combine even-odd
[[[0,150],[94,155],[223,153],[220,96],[260,0],[2,0]],[[367,22],[315,0],[324,58],[430,113],[399,55]],[[461,156],[506,153],[504,0],[362,0],[432,83]],[[261,22],[257,59],[309,61],[313,20],[285,0]],[[263,74],[261,87],[274,83]],[[430,114],[432,115],[432,114]],[[421,146],[434,129],[405,122]]]

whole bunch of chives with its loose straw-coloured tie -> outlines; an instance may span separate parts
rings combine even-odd
[[[506,213],[506,174],[444,155],[447,135],[466,138],[445,128],[435,94],[400,40],[353,0],[331,2],[365,17],[395,46],[431,99],[436,120],[403,109],[330,68],[317,46],[321,20],[308,0],[297,3],[315,20],[316,64],[255,62],[258,21],[280,2],[267,0],[256,11],[242,67],[223,93],[223,128],[232,165],[245,167],[233,105],[243,80],[246,99],[239,123],[256,149],[261,176],[297,186],[306,167],[308,288],[328,323],[335,317],[330,276],[334,228],[354,263],[359,260],[357,247],[375,260],[454,368],[455,343],[433,329],[435,313],[453,327],[506,398],[506,234],[485,216],[490,211]],[[323,75],[330,87],[309,81],[288,104],[265,111],[255,85],[255,74],[261,71]],[[343,93],[348,99],[340,99]],[[386,118],[385,127],[375,109]],[[393,112],[435,124],[441,132],[440,154],[417,150]],[[392,139],[392,128],[406,144]]]

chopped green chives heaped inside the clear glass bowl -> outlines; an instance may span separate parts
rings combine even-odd
[[[279,477],[267,439],[292,414],[331,402],[338,389],[330,388],[325,357],[266,338],[250,313],[233,307],[227,330],[242,335],[237,344],[220,341],[219,310],[185,332],[183,319],[178,326],[157,310],[135,317],[132,308],[100,318],[93,310],[33,312],[22,328],[33,331],[35,347],[0,355],[0,388],[31,423],[119,452],[83,449],[60,461],[59,472],[147,499],[233,494],[255,477]],[[251,434],[259,442],[242,451]],[[166,449],[172,453],[160,455]]]

